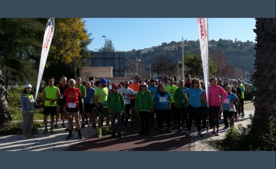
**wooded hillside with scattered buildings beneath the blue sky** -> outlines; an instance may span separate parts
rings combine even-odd
[[[237,39],[226,40],[219,39],[218,41],[209,40],[209,51],[214,49],[219,52],[223,52],[227,58],[227,62],[235,66],[240,67],[242,70],[247,70],[249,72],[254,71],[254,55],[255,55],[255,43],[254,42],[241,42]],[[150,49],[153,49],[150,51]],[[130,63],[132,60],[135,60],[136,57],[141,60],[142,64],[148,66],[150,63],[155,62],[157,56],[166,55],[171,57],[173,62],[177,63],[178,60],[182,59],[182,47],[181,42],[169,42],[161,43],[159,46],[153,46],[148,50],[139,49],[132,51],[120,51],[125,53],[125,62],[126,64]],[[147,52],[149,51],[149,52]],[[200,43],[199,40],[185,40],[184,41],[184,51],[197,53],[200,52]]]

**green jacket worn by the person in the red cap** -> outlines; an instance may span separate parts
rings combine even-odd
[[[125,99],[121,92],[114,94],[111,92],[107,95],[106,100],[107,110],[112,109],[110,113],[121,113],[126,110]]]

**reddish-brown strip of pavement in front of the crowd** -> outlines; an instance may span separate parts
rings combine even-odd
[[[171,125],[172,126],[172,125]],[[140,126],[123,129],[122,138],[111,139],[111,135],[97,135],[69,147],[65,151],[190,151],[190,138],[183,137],[187,129],[178,130],[171,127],[172,133],[167,133],[164,123],[164,133],[158,127],[150,130],[149,135],[138,135]]]

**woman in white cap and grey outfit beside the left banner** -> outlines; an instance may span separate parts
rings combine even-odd
[[[34,109],[37,105],[37,102],[35,102],[33,98],[32,85],[25,85],[25,89],[20,98],[20,105],[23,119],[22,138],[27,139],[29,137],[34,137],[34,135],[32,134],[32,121],[34,116]]]

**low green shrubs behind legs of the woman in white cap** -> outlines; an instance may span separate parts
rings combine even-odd
[[[8,126],[0,128],[0,135],[22,135],[23,121],[12,121]],[[33,121],[32,134],[37,134],[38,129],[42,126],[42,123]]]

